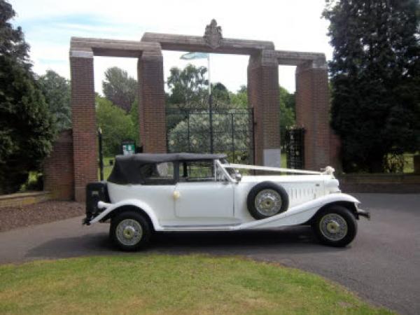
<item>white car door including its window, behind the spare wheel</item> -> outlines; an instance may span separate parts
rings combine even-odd
[[[223,176],[216,179],[215,167],[214,160],[179,162],[179,181],[174,190],[176,216],[233,218],[233,183]],[[223,220],[202,223],[210,222],[223,223]]]

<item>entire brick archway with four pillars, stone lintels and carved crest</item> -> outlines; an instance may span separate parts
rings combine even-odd
[[[204,36],[145,33],[141,41],[71,38],[71,108],[73,119],[74,196],[85,198],[85,185],[97,181],[94,111],[94,56],[138,58],[139,122],[144,152],[166,148],[162,50],[249,55],[248,102],[254,111],[256,165],[280,165],[279,64],[297,66],[296,118],[305,129],[305,166],[332,164],[328,69],[325,55],[275,50],[269,41],[223,38],[212,21]]]

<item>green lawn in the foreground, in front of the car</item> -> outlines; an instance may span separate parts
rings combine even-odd
[[[0,314],[392,314],[321,276],[241,258],[118,255],[0,266]]]

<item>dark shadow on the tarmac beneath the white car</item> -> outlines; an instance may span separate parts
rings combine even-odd
[[[214,253],[258,255],[264,253],[321,253],[346,251],[316,241],[311,228],[248,230],[237,232],[158,232],[145,252],[173,254]],[[67,258],[83,255],[121,254],[104,232],[80,237],[57,238],[31,248],[25,258]]]

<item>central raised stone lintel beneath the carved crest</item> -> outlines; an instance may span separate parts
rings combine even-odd
[[[144,33],[142,43],[160,43],[163,50],[216,52],[235,55],[253,55],[260,50],[274,50],[271,41],[251,41],[247,39],[222,38],[221,45],[211,48],[202,36]]]

